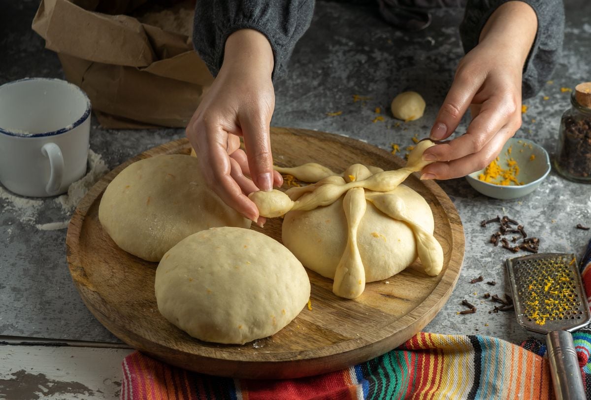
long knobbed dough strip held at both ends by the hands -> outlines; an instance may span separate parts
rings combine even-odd
[[[314,191],[304,194],[296,201],[282,191],[255,191],[248,195],[263,217],[278,217],[290,210],[310,211],[320,206],[328,206],[354,187],[363,187],[372,191],[391,191],[401,184],[413,172],[418,172],[433,161],[422,160],[423,152],[435,144],[422,141],[408,155],[406,167],[394,171],[382,171],[371,177],[346,184],[327,183],[314,187]]]

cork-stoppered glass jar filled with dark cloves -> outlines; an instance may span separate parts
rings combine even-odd
[[[568,180],[591,183],[591,82],[578,84],[570,103],[560,120],[554,167]]]

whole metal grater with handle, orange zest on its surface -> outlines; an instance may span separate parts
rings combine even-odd
[[[586,326],[591,313],[574,254],[538,253],[508,259],[506,265],[519,325],[546,334],[554,394],[584,399],[569,332]]]

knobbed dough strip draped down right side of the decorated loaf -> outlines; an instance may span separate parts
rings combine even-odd
[[[393,193],[375,193],[368,191],[365,199],[371,201],[376,209],[387,216],[407,223],[413,230],[417,242],[418,258],[427,275],[436,276],[443,268],[443,249],[437,239],[418,225],[406,212],[407,207],[399,196]]]

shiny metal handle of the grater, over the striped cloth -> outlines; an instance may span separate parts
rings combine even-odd
[[[551,331],[546,335],[546,345],[556,398],[584,399],[583,378],[573,336],[566,330]]]

